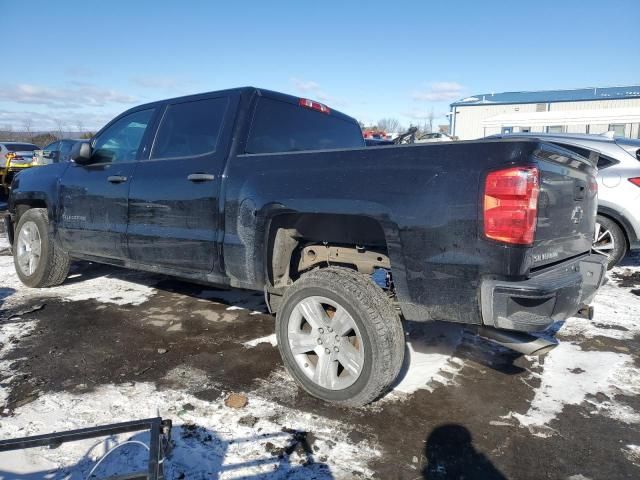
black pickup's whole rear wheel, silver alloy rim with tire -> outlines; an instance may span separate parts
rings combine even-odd
[[[387,295],[367,276],[330,267],[303,275],[276,317],[289,373],[311,395],[349,406],[384,393],[402,366],[404,332]]]

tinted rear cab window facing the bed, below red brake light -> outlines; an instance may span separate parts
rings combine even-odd
[[[246,153],[361,147],[364,139],[357,124],[332,114],[261,97]]]

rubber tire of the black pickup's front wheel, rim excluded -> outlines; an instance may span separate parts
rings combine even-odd
[[[35,225],[40,238],[40,257],[37,267],[29,274],[18,264],[20,232],[25,224]],[[69,274],[69,256],[58,247],[49,230],[46,208],[31,208],[20,217],[13,245],[13,263],[20,281],[28,287],[44,288],[60,285]]]

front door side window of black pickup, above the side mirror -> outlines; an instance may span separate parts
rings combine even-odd
[[[96,138],[92,163],[135,160],[152,115],[153,109],[140,110],[117,120]]]

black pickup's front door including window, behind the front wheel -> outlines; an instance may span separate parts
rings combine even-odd
[[[88,165],[71,163],[60,179],[58,228],[65,250],[126,258],[127,199],[154,109],[115,119],[92,142]]]

